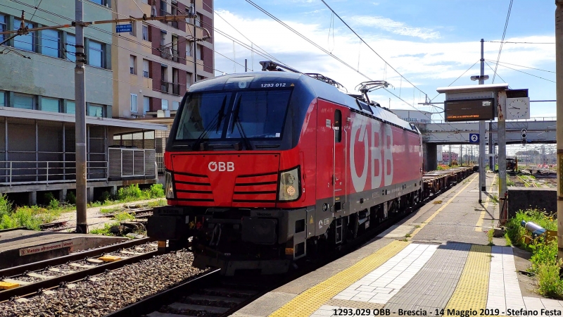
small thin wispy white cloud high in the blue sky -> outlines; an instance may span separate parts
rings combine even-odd
[[[438,31],[426,27],[411,27],[405,23],[381,16],[356,15],[347,20],[354,21],[353,23],[355,25],[378,27],[381,30],[386,30],[397,35],[419,37],[421,39],[438,39],[440,37],[440,32]]]

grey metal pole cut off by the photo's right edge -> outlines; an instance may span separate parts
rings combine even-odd
[[[555,0],[555,70],[557,118],[563,120],[563,0]],[[563,129],[557,127],[557,258],[563,259]]]

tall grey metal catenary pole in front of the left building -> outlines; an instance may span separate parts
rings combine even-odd
[[[76,232],[88,233],[86,220],[86,74],[84,62],[84,18],[82,0],[75,1],[76,17],[76,67],[75,67],[75,102],[76,102]]]

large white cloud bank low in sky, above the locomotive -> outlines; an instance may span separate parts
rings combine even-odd
[[[268,18],[251,19],[243,15],[235,15],[229,11],[219,11],[219,14],[255,44],[258,44],[262,49],[265,49],[268,53],[293,68],[303,72],[322,73],[337,82],[341,82],[350,93],[354,92],[354,87],[358,83],[367,80],[355,70],[351,70],[331,56],[324,54],[320,49],[312,46],[312,44],[293,34],[293,32],[279,25],[274,20]],[[286,20],[284,22],[324,49],[330,50],[334,48],[332,54],[338,56],[353,68],[358,67],[359,58],[360,72],[373,80],[387,80],[391,82],[395,87],[395,89],[389,88],[391,92],[397,95],[400,94],[400,97],[410,104],[424,101],[424,94],[413,89],[412,85],[405,82],[405,80],[401,80],[391,68],[387,66],[386,72],[384,72],[384,62],[370,51],[365,44],[360,45],[359,39],[348,30],[336,28],[334,30],[333,44],[332,37],[330,37],[330,41],[328,40],[329,29],[327,25],[307,23],[306,21],[292,22]],[[250,46],[248,40],[244,39],[220,18],[215,18],[215,27]],[[453,82],[467,68],[479,61],[480,56],[481,46],[479,40],[474,42],[416,42],[405,39],[390,39],[388,37],[381,38],[377,35],[363,34],[362,32],[360,32],[360,35],[396,70],[407,77],[413,84],[422,87],[429,94],[430,98],[437,94],[436,87],[445,86]],[[513,37],[505,40],[511,42],[555,42],[555,38],[552,36]],[[233,58],[232,40],[215,33],[214,42],[217,52]],[[486,59],[496,60],[498,44],[489,42],[485,44]],[[244,64],[245,58],[248,59],[249,66],[253,65],[255,70],[260,70],[258,61],[270,59],[254,54],[254,63],[251,63],[250,51],[237,44],[236,61]],[[505,44],[500,61],[537,68],[542,68],[541,66],[545,66],[545,63],[552,63],[555,68],[555,45]],[[493,63],[489,62],[489,64],[491,67],[495,67]],[[510,67],[529,72],[525,68]],[[227,73],[234,72],[233,62],[219,55],[215,55],[215,68]],[[485,69],[486,74],[491,75],[492,78],[493,71],[488,66],[485,66]],[[236,71],[242,72],[243,68],[236,66]],[[545,84],[545,91],[549,89],[554,89],[555,91],[555,85],[552,88],[547,86],[552,85],[550,82],[536,80],[527,75],[524,75],[526,77],[520,80],[520,77],[516,77],[516,75],[523,74],[500,66],[498,72],[505,80],[512,80],[512,82],[509,82],[511,87],[529,87],[531,88],[531,94],[533,87],[530,86],[529,82],[536,82],[538,85]],[[471,85],[473,82],[469,81],[469,76],[478,74],[479,63],[472,70],[465,73],[455,85]],[[510,75],[514,76],[510,78]],[[542,73],[540,75],[555,80],[555,76],[550,77],[550,75],[555,74]],[[519,79],[519,81],[517,82],[515,78]],[[495,80],[495,82],[501,81]],[[539,91],[540,88],[538,87],[536,92]],[[378,99],[374,100],[379,101],[381,104],[388,104],[388,98],[391,97],[393,98],[391,101],[392,108],[401,108],[401,106],[402,108],[410,108],[410,106],[403,104],[402,101],[398,101],[398,99],[392,97],[391,94],[384,90],[378,90],[377,94]],[[379,100],[380,97],[382,97],[381,100]]]

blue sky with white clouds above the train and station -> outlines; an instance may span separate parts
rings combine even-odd
[[[360,82],[386,80],[392,85],[389,92],[379,89],[370,99],[391,109],[439,112],[419,103],[426,95],[433,102],[443,101],[445,96],[436,92],[438,87],[476,85],[470,77],[479,75],[480,41],[484,39],[485,74],[490,77],[486,84],[493,83],[499,60],[502,65],[494,83],[527,88],[532,101],[555,100],[552,0],[513,1],[505,42],[533,44],[505,43],[500,59],[499,41],[510,0],[325,0],[371,49],[360,44],[321,0],[253,1],[329,54],[245,0],[215,0],[215,28],[220,31],[215,32],[215,75],[243,72],[245,58],[248,68],[260,70],[258,62],[271,59],[267,57],[270,54],[303,73],[331,77],[349,93],[357,93],[355,87]],[[260,56],[258,51],[267,54]],[[531,103],[532,117],[555,117],[555,113],[555,102]],[[432,118],[443,115],[436,113]]]

